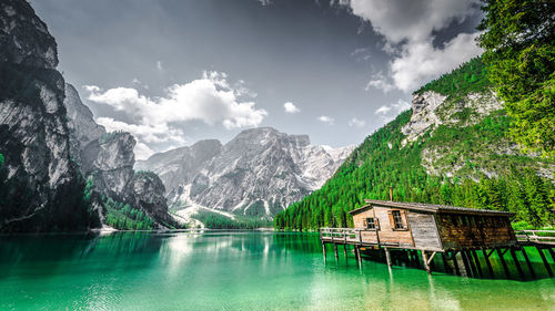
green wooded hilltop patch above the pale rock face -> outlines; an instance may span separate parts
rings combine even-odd
[[[473,92],[483,92],[491,85],[492,83],[487,79],[487,71],[482,59],[474,58],[454,69],[451,73],[443,74],[422,86],[415,93],[422,94],[426,91],[434,91],[450,97],[460,97]]]

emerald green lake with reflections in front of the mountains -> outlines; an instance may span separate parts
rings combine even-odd
[[[330,247],[324,261],[314,234],[2,236],[0,309],[555,310],[555,279],[545,276],[428,276],[370,260],[359,267],[340,250],[335,260]]]

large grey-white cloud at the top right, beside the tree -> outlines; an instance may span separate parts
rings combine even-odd
[[[432,43],[434,32],[454,21],[462,22],[478,10],[477,0],[351,0],[353,14],[371,22],[385,39],[383,50],[392,54],[389,79],[373,79],[366,85],[389,92],[411,92],[458,64],[480,55],[476,33],[461,33],[443,48]],[[344,3],[343,3],[344,4]],[[390,82],[391,81],[391,82]]]

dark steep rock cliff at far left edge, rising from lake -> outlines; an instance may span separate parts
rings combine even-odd
[[[57,44],[22,0],[0,2],[0,230],[98,226],[70,158]]]

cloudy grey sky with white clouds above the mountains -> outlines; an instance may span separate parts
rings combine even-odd
[[[60,70],[138,158],[273,126],[360,144],[478,55],[474,0],[31,0]]]

